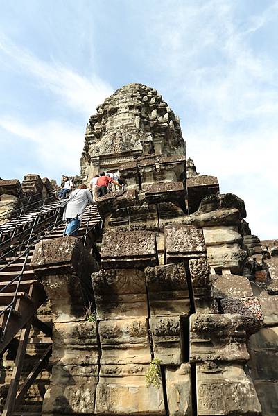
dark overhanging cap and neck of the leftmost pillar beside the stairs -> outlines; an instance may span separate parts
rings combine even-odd
[[[75,237],[60,237],[37,243],[31,267],[42,280],[51,300],[53,320],[85,320],[85,303],[94,303],[92,272],[98,264]]]

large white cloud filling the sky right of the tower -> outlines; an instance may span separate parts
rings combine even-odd
[[[174,92],[173,104],[182,107],[187,155],[198,171],[218,176],[220,190],[245,200],[254,234],[275,238],[278,71],[271,49],[259,54],[251,40],[277,19],[278,1],[261,15],[244,17],[237,14],[240,4],[211,0],[161,8],[150,29],[159,45],[152,65],[159,66],[165,98]],[[190,105],[196,114],[187,117]]]

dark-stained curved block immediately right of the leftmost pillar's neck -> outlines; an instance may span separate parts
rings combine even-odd
[[[137,269],[100,270],[92,275],[98,320],[148,316],[144,272]]]

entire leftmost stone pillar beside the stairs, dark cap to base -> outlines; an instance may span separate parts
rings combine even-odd
[[[94,413],[99,346],[91,273],[94,258],[75,237],[40,241],[31,261],[53,313],[53,372],[44,415]]]

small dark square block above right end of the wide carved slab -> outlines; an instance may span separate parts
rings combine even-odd
[[[128,229],[130,231],[158,231],[157,206],[146,204],[128,207]]]

